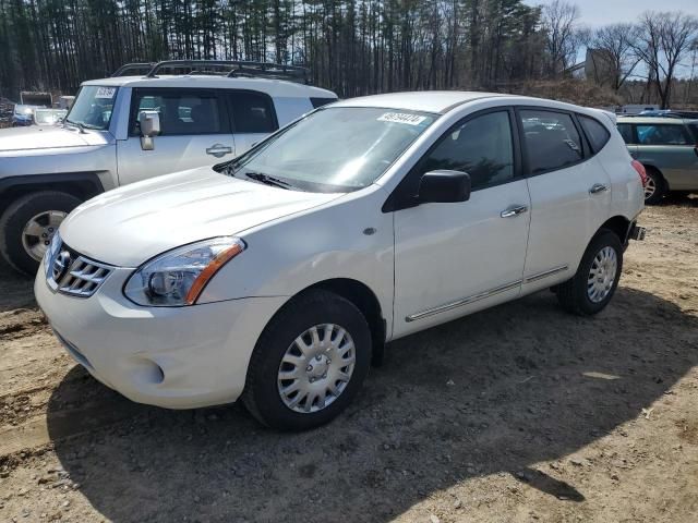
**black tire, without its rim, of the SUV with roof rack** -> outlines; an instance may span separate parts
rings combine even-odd
[[[36,215],[48,210],[70,212],[81,203],[75,196],[58,191],[29,193],[12,202],[0,218],[0,254],[4,260],[20,272],[36,275],[39,262],[22,244],[24,227]]]

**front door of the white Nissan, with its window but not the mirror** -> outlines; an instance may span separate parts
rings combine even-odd
[[[507,109],[468,117],[408,175],[416,192],[424,172],[465,171],[472,193],[395,212],[395,338],[519,294],[530,202],[512,119]]]

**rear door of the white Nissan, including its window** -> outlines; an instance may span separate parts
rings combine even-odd
[[[531,195],[525,293],[570,278],[607,219],[611,179],[581,138],[571,112],[517,110]]]

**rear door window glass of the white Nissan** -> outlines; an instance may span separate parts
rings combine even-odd
[[[581,139],[569,114],[540,110],[522,110],[519,114],[532,174],[582,160]]]

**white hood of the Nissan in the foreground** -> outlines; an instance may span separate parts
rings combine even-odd
[[[77,207],[63,242],[110,265],[137,267],[165,251],[300,212],[340,194],[289,191],[200,168],[127,185]]]

